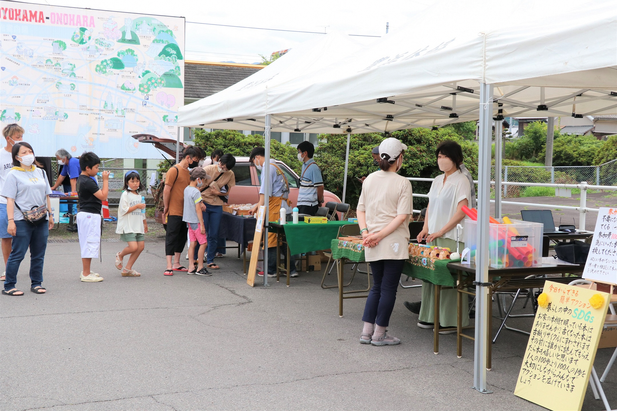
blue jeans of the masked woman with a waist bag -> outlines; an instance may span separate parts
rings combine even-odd
[[[30,287],[36,287],[43,282],[43,262],[49,236],[48,222],[43,221],[38,226],[33,226],[24,220],[17,220],[15,227],[17,232],[13,236],[12,250],[10,250],[9,261],[6,263],[5,291],[15,288],[17,271],[28,251],[28,246],[30,247]]]

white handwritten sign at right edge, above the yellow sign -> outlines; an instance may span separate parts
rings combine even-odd
[[[582,277],[617,284],[617,208],[600,208]]]

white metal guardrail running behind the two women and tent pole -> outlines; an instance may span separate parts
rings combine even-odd
[[[407,177],[409,181],[433,181],[431,178],[420,178],[420,177]],[[478,183],[477,180],[474,180],[474,183]],[[494,185],[495,182],[491,181],[491,184]],[[552,183],[535,183],[535,182],[514,182],[514,181],[502,181],[501,185],[503,186],[503,191],[505,192],[506,187],[508,185],[512,186],[520,186],[520,187],[549,187],[555,189],[580,189],[581,197],[580,197],[580,205],[578,207],[575,206],[563,206],[563,205],[555,205],[555,204],[537,204],[537,203],[521,203],[520,201],[501,201],[502,204],[511,204],[511,205],[522,205],[529,206],[533,204],[535,206],[551,208],[553,210],[574,210],[579,211],[579,230],[585,229],[585,219],[586,213],[598,213],[600,211],[598,208],[589,208],[587,207],[587,190],[605,190],[605,191],[617,191],[617,186],[615,185],[592,185],[587,184],[586,181],[581,182],[580,184],[552,184]],[[413,193],[413,197],[423,197],[428,198],[427,194],[416,194]],[[491,200],[491,203],[494,203],[495,200]],[[414,213],[420,213],[420,210],[413,210]]]

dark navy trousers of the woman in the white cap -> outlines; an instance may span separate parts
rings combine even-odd
[[[362,321],[380,327],[388,326],[404,262],[405,260],[379,260],[369,263],[373,273],[373,288],[366,298]]]

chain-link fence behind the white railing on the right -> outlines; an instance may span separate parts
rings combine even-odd
[[[491,170],[495,181],[495,167]],[[502,166],[502,181],[552,184],[617,185],[617,160],[599,166]],[[492,187],[494,189],[494,187]],[[520,197],[524,187],[510,186],[505,197]]]

